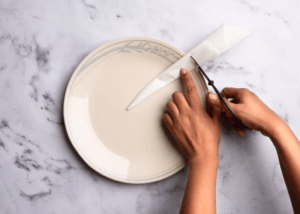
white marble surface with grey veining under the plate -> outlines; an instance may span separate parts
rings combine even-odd
[[[178,213],[187,168],[128,185],[95,173],[65,132],[63,96],[79,62],[142,35],[187,52],[221,23],[255,35],[204,66],[222,89],[248,87],[300,135],[300,1],[0,0],[0,213]],[[224,125],[226,125],[224,123]],[[274,146],[223,128],[218,213],[292,213]]]

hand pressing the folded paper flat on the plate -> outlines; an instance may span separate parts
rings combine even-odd
[[[181,80],[186,88],[187,98],[180,93],[172,94],[173,101],[167,103],[163,120],[183,149],[189,163],[218,164],[220,142],[220,109],[207,106],[204,110],[190,72],[180,70]]]

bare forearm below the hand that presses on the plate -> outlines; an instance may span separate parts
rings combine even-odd
[[[189,176],[180,214],[215,214],[217,160],[205,163],[190,163]]]

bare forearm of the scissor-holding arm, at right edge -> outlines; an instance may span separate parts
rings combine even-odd
[[[300,213],[300,143],[292,130],[283,121],[270,133],[294,212]]]

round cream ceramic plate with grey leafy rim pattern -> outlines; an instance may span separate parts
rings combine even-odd
[[[185,166],[162,122],[171,94],[181,90],[179,80],[126,110],[146,84],[183,55],[158,39],[126,37],[105,43],[80,63],[66,90],[64,119],[89,166],[125,183],[158,181]],[[205,106],[205,81],[202,76],[196,81]]]

